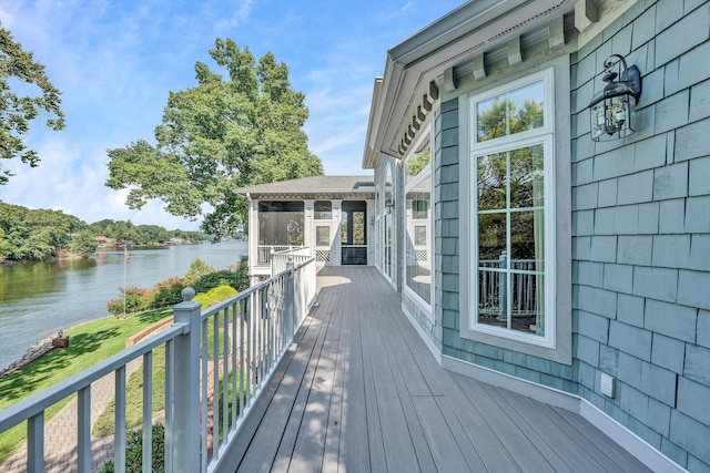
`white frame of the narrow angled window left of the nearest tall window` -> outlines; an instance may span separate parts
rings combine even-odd
[[[423,182],[424,179],[428,178],[429,179],[429,189],[430,189],[430,197],[429,197],[429,204],[428,204],[428,208],[427,212],[429,214],[429,228],[428,228],[428,233],[427,233],[427,238],[428,238],[428,253],[429,253],[429,265],[432,267],[430,269],[430,276],[432,276],[432,280],[429,284],[429,300],[434,301],[434,289],[435,289],[435,281],[434,281],[434,268],[435,266],[435,253],[434,253],[434,136],[432,136],[432,125],[428,124],[426,126],[426,128],[423,131],[422,135],[419,136],[419,138],[414,143],[414,145],[409,148],[410,152],[407,155],[407,157],[404,158],[404,169],[403,169],[403,175],[406,176],[407,173],[407,162],[409,161],[409,158],[412,156],[414,156],[414,150],[417,150],[419,147],[419,145],[425,141],[425,140],[429,140],[430,146],[429,146],[429,153],[430,153],[430,160],[429,160],[429,168],[428,168],[428,174],[426,173],[419,173],[414,179],[412,179],[410,183],[405,185],[404,188],[404,199],[405,199],[405,205],[404,205],[404,216],[405,216],[405,237],[409,238],[413,237],[414,235],[409,234],[409,227],[413,225],[414,218],[409,217],[407,215],[406,212],[406,199],[407,199],[407,194],[409,193],[410,188],[414,188],[417,184],[419,184],[420,182]],[[404,181],[406,181],[406,177],[404,178]],[[417,218],[417,220],[422,220],[422,218]],[[414,241],[413,241],[414,244]],[[404,255],[404,258],[406,259],[406,255]],[[424,312],[427,318],[430,321],[434,321],[434,310],[432,310],[432,304],[427,302],[426,300],[424,300],[422,298],[422,296],[419,296],[417,292],[414,291],[414,289],[412,289],[407,284],[407,265],[403,264],[404,266],[404,284],[403,286],[403,291],[405,295],[407,295],[409,297],[409,299],[419,308],[419,310],[422,310],[422,312]]]

